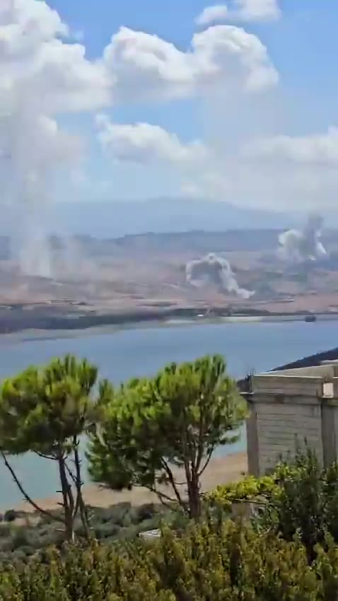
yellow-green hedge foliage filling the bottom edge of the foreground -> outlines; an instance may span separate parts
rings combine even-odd
[[[0,573],[1,601],[334,601],[338,550],[317,547],[312,565],[298,539],[249,525],[193,523],[150,544],[50,550]]]

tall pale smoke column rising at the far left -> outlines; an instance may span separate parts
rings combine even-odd
[[[14,99],[13,99],[14,100]],[[52,276],[45,215],[54,177],[76,141],[59,132],[57,122],[36,115],[29,103],[13,103],[0,115],[2,199],[11,211],[11,251],[26,275]]]

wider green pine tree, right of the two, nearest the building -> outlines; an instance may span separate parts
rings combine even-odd
[[[246,414],[223,358],[171,363],[119,390],[105,383],[100,409],[88,448],[93,480],[115,490],[145,486],[199,518],[202,474],[217,447],[238,440]]]

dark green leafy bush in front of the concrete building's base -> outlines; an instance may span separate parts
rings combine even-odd
[[[338,464],[323,468],[310,450],[279,462],[274,473],[218,486],[206,495],[211,506],[230,508],[235,501],[261,506],[257,525],[292,541],[298,533],[309,558],[327,535],[338,544]]]

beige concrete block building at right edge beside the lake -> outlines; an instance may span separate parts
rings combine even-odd
[[[269,472],[305,440],[322,464],[338,460],[338,363],[252,375],[245,397],[250,474]]]

